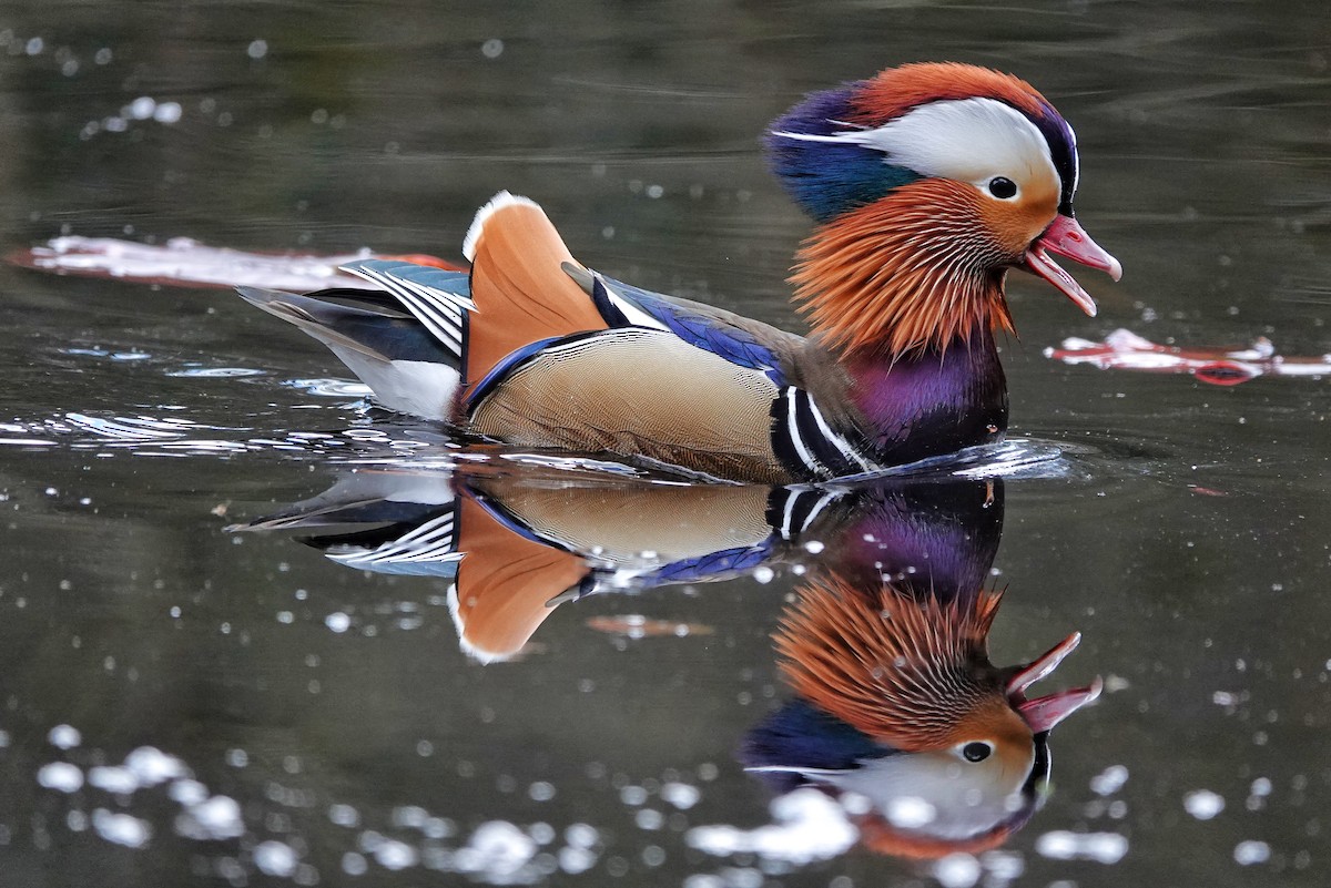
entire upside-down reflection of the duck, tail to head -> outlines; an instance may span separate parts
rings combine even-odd
[[[1001,481],[721,487],[361,471],[244,529],[349,566],[453,581],[462,647],[518,654],[564,602],[788,566],[773,635],[793,697],[740,743],[779,794],[839,799],[869,848],[910,857],[1002,844],[1049,780],[1050,730],[1101,691],[1029,698],[1079,641],[996,667],[989,568]]]

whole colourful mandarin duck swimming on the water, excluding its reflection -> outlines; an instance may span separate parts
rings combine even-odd
[[[711,477],[844,477],[997,441],[1009,269],[1087,314],[1050,253],[1119,263],[1073,217],[1071,128],[1017,77],[912,64],[816,93],[767,136],[816,223],[796,259],[800,336],[578,263],[544,211],[500,193],[467,271],[370,259],[373,290],[241,287],[325,343],[383,407],[519,447]]]

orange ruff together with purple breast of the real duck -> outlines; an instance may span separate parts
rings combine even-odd
[[[997,441],[1008,389],[993,331],[1012,328],[1006,266],[974,189],[924,179],[819,226],[796,299],[851,378],[860,429],[885,465]]]

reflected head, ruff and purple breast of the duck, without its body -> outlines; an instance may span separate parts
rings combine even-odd
[[[851,510],[773,635],[793,699],[749,730],[740,760],[779,792],[847,804],[861,841],[910,857],[1002,844],[1044,802],[1049,732],[1101,681],[1028,699],[1077,646],[996,667],[986,589],[1001,481],[880,485]]]

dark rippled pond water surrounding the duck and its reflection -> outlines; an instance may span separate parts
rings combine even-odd
[[[756,136],[917,58],[1058,105],[1079,218],[1126,270],[1081,275],[1097,319],[1010,288],[1014,432],[1063,456],[1000,491],[990,649],[1079,630],[1046,683],[1106,682],[1025,830],[936,864],[769,807],[735,750],[789,699],[769,635],[819,553],[560,605],[482,666],[447,580],[224,532],[349,460],[443,460],[427,429],[367,415],[319,346],[222,292],[0,269],[0,884],[1326,884],[1326,380],[1042,356],[1121,326],[1331,350],[1324,3],[11,3],[4,246],[455,255],[507,187],[608,274],[796,324],[805,223]]]

